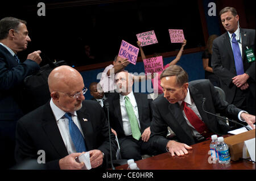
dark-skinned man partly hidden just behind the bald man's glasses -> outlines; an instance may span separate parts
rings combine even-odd
[[[89,86],[90,95],[93,96],[91,100],[96,100],[101,107],[104,106],[103,102],[106,100],[106,96],[104,95],[104,91],[101,89],[100,83],[92,82]]]

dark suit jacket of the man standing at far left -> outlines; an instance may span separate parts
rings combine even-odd
[[[15,57],[0,44],[0,120],[18,120],[22,116],[18,104],[22,96],[22,82],[39,68],[32,60],[18,64]]]

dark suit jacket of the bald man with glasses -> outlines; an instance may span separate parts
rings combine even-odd
[[[109,128],[105,113],[100,104],[93,100],[84,100],[77,112],[87,150],[98,149],[105,154],[106,167],[109,155]],[[83,118],[88,121],[84,121]],[[117,151],[115,136],[111,133],[112,154]],[[59,159],[68,155],[49,102],[23,116],[17,123],[15,159],[37,159],[38,150],[46,152],[48,169],[60,169]]]

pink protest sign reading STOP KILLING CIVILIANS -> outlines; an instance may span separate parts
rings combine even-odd
[[[163,71],[163,57],[152,57],[143,60],[145,73],[157,73]]]

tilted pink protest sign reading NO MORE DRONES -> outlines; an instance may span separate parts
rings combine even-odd
[[[122,58],[127,58],[127,60],[131,62],[131,64],[135,65],[138,54],[139,54],[139,48],[127,43],[125,40],[122,40],[118,56]]]

